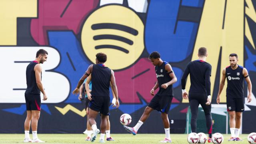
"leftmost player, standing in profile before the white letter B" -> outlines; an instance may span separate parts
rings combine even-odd
[[[43,100],[47,100],[47,95],[44,91],[44,86],[41,81],[42,67],[40,65],[47,60],[47,56],[48,52],[46,52],[46,50],[38,50],[36,52],[36,59],[30,62],[26,68],[27,88],[25,91],[25,100],[27,117],[24,122],[24,142],[44,142],[37,137],[37,124],[41,111],[40,92],[44,94]],[[29,136],[30,124],[32,128],[33,140],[31,140]]]

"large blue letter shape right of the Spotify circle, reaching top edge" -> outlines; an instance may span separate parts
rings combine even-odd
[[[151,0],[145,26],[145,44],[149,53],[158,50],[167,62],[179,62],[191,54],[198,30],[194,22],[178,21],[180,0]]]

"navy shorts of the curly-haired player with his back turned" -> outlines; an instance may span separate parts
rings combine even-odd
[[[109,115],[110,97],[109,96],[92,96],[89,108],[100,112],[105,116]]]

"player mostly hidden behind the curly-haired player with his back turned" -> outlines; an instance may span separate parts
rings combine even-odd
[[[88,78],[86,78],[86,82],[85,82],[85,85],[87,85],[89,87],[89,90],[91,90],[91,88],[92,88],[91,80],[92,80],[92,76],[90,75],[90,76],[88,76]],[[110,86],[111,86],[111,83],[110,83]],[[111,86],[111,90],[112,90],[112,86]],[[114,106],[116,106],[116,96],[114,95],[113,90],[112,90],[112,94],[113,94],[113,99],[112,99],[112,104],[111,105],[113,105],[113,107],[114,107]],[[86,96],[87,96],[87,94],[86,94]],[[88,112],[88,111],[86,111],[86,112]],[[89,122],[87,122],[87,124],[89,124]],[[90,128],[90,127],[91,127],[90,124],[89,124],[89,126],[87,125],[87,128]],[[90,131],[88,131],[88,132],[90,132]],[[107,116],[106,137],[107,137],[106,138],[107,141],[114,141],[114,139],[110,137],[110,121],[109,121],[109,116]],[[88,141],[88,140],[91,140],[91,133],[87,134],[86,141]]]

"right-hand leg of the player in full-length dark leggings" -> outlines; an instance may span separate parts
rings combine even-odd
[[[207,127],[208,137],[209,137],[208,142],[212,142],[212,114],[211,114],[212,104],[206,105],[206,102],[207,102],[206,95],[202,95],[201,97],[202,97],[202,99],[199,100],[199,103],[204,110],[206,127]]]

